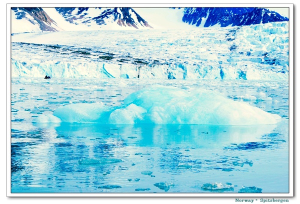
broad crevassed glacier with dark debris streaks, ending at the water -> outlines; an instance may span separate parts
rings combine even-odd
[[[288,22],[11,36],[11,77],[287,80]]]

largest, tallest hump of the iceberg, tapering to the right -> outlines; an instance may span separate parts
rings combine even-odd
[[[278,115],[267,113],[247,103],[233,101],[216,91],[183,90],[153,85],[130,94],[124,105],[144,108],[144,123],[262,125],[275,124]]]

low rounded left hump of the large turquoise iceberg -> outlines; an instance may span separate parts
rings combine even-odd
[[[99,103],[77,103],[58,107],[53,115],[67,123],[107,123],[111,107]]]

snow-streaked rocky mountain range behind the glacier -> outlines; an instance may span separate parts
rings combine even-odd
[[[13,7],[11,33],[61,30],[226,27],[287,21],[275,11],[246,7]]]

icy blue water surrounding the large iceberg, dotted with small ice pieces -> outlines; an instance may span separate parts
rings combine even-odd
[[[151,80],[217,90],[282,117],[276,125],[35,124],[69,103],[120,105],[147,80],[13,78],[11,193],[288,193],[285,82]],[[99,87],[102,87],[99,88]],[[217,188],[205,188],[221,183]]]

